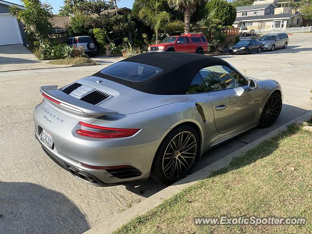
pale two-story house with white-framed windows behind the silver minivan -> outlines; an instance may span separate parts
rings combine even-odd
[[[257,4],[271,1],[271,3]],[[247,29],[273,29],[301,26],[304,15],[292,11],[289,2],[276,0],[255,1],[254,5],[236,7],[234,27]]]

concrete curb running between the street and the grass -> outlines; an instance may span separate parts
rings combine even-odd
[[[287,129],[287,126],[292,123],[302,123],[304,120],[308,119],[310,111],[304,113],[302,116],[297,117],[288,123],[274,129],[272,132],[254,140],[253,142],[241,147],[240,149],[234,151],[233,153],[220,158],[219,160],[215,161],[214,163],[206,166],[205,168],[201,169],[200,171],[197,171],[190,176],[187,176],[178,182],[174,183],[173,185],[159,191],[158,193],[146,198],[145,200],[141,201],[140,203],[137,203],[133,207],[125,210],[124,212],[115,215],[111,218],[108,218],[106,220],[102,220],[98,225],[91,228],[90,230],[86,231],[84,234],[110,234],[113,231],[115,231],[117,228],[128,222],[130,219],[136,217],[137,215],[142,215],[146,213],[147,211],[155,208],[160,203],[163,202],[164,199],[169,198],[173,195],[176,195],[178,192],[180,192],[182,189],[196,183],[198,180],[204,179],[212,171],[221,169],[225,166],[227,166],[232,158],[236,156],[240,156],[246,151],[254,148],[264,140],[267,140],[278,133],[284,131]]]

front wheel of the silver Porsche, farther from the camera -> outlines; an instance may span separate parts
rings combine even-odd
[[[277,93],[271,94],[263,107],[258,127],[267,128],[271,126],[281,113],[282,105],[281,96]]]

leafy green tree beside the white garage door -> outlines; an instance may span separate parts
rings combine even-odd
[[[25,32],[37,40],[46,39],[53,28],[49,19],[53,17],[52,7],[39,0],[22,0],[25,9],[9,6],[10,13],[25,25]]]

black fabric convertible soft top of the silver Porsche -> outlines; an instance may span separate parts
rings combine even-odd
[[[159,75],[134,82],[98,72],[96,77],[109,79],[141,92],[158,95],[186,94],[195,74],[202,68],[229,64],[211,56],[176,52],[145,53],[122,61],[142,63],[162,69]]]

